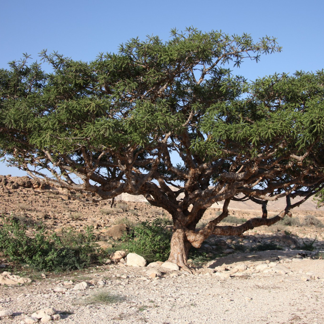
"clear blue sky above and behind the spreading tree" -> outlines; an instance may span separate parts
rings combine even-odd
[[[99,52],[117,52],[130,38],[169,37],[171,28],[194,26],[203,31],[249,33],[257,40],[278,38],[281,53],[246,61],[235,73],[250,80],[274,72],[316,71],[323,64],[321,0],[273,1],[2,1],[0,68],[27,52],[36,60],[42,49],[58,51],[75,60],[91,61]],[[0,163],[0,174],[23,175]]]

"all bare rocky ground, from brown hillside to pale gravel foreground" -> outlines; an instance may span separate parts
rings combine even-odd
[[[57,233],[82,232],[85,225],[93,225],[98,240],[108,244],[113,243],[110,227],[125,218],[139,222],[169,217],[141,201],[116,201],[112,208],[109,201],[80,203],[67,192],[14,177],[0,177],[0,203],[3,222],[11,214],[26,223],[42,222]],[[217,212],[217,207],[210,208],[201,225]],[[234,206],[229,224],[255,213]],[[309,215],[322,221],[321,211],[314,208],[296,213],[298,226],[281,223],[242,237],[211,237],[201,252],[213,254],[221,247],[228,255],[197,267],[194,275],[161,263],[131,267],[122,262],[62,274],[34,273],[30,283],[0,286],[0,316],[13,312],[0,323],[26,323],[34,312],[48,307],[54,307],[65,323],[324,323],[324,260],[315,258],[324,250],[324,230],[308,226]],[[283,250],[238,252],[269,242]],[[0,263],[6,271],[1,255]],[[150,276],[149,269],[157,275]],[[102,304],[109,294],[112,303]]]

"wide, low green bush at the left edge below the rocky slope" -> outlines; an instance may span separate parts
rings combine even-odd
[[[93,234],[87,227],[86,235],[71,233],[59,237],[56,233],[46,236],[44,228],[34,238],[26,234],[26,225],[12,218],[10,224],[0,228],[0,250],[13,262],[28,264],[43,271],[81,269],[99,258],[91,244]]]

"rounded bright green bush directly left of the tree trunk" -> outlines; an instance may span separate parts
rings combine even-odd
[[[170,254],[172,233],[162,226],[159,219],[142,222],[122,237],[122,248],[141,255],[147,262],[167,260]]]

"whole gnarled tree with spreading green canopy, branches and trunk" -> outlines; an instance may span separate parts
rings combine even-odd
[[[230,70],[280,51],[272,37],[188,28],[165,42],[131,39],[89,63],[44,50],[28,65],[26,54],[0,70],[0,154],[97,200],[143,194],[172,215],[169,260],[186,267],[191,245],[271,225],[323,187],[323,70],[254,82]],[[267,201],[280,197],[286,209],[268,218]],[[229,202],[244,199],[262,217],[218,226]],[[219,201],[223,213],[195,231]]]

